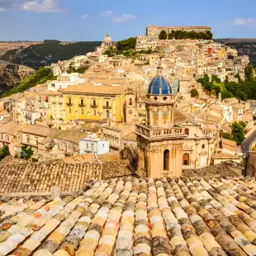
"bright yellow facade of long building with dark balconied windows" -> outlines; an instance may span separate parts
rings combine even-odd
[[[83,92],[64,92],[65,121],[111,119],[123,121],[123,95],[88,95]]]

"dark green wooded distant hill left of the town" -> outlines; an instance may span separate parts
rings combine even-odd
[[[72,59],[75,55],[86,55],[94,51],[100,41],[75,42],[62,44],[58,40],[45,40],[38,45],[23,49],[8,50],[0,59],[12,64],[23,64],[32,69],[38,69],[59,60]]]

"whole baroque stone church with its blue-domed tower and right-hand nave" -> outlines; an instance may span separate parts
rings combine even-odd
[[[145,122],[136,125],[138,173],[145,177],[181,176],[184,168],[201,168],[211,162],[214,137],[174,107],[177,93],[159,66],[149,83]]]

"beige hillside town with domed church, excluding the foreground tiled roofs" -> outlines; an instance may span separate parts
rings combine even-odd
[[[235,121],[253,130],[255,102],[221,100],[197,80],[207,75],[237,81],[237,74],[243,79],[249,57],[214,40],[159,39],[161,31],[181,29],[211,32],[204,26],[149,26],[146,36],[136,37],[140,54],[132,58],[108,56],[115,42],[107,34],[95,52],[51,64],[55,80],[0,99],[1,147],[21,159],[28,159],[30,149],[35,162],[83,154],[97,161],[101,154],[129,149],[138,173],[155,178],[227,160],[242,163],[240,147],[221,132],[230,133]],[[81,67],[83,73],[73,72]],[[163,145],[170,147],[166,155]],[[173,150],[180,163],[168,159]],[[157,173],[150,170],[152,161]]]

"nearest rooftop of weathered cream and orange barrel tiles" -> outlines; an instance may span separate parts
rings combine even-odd
[[[255,178],[114,178],[2,197],[0,255],[255,255],[255,192]]]

